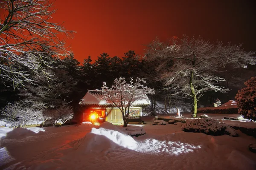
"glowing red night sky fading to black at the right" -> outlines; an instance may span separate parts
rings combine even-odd
[[[256,51],[255,0],[56,0],[54,5],[53,20],[77,32],[66,41],[79,62],[102,52],[143,55],[144,45],[157,36],[164,41],[183,34]]]

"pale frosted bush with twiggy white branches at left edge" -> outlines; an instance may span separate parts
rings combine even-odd
[[[41,102],[18,101],[7,103],[1,110],[1,117],[11,127],[24,127],[31,122],[41,121],[45,105]]]

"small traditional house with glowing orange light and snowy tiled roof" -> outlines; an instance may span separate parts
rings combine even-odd
[[[128,122],[141,122],[142,107],[150,104],[148,96],[143,96],[142,100],[134,101],[130,107]],[[107,103],[103,99],[101,91],[88,90],[83,99],[79,102],[83,107],[83,122],[111,122],[122,124],[122,113],[113,103]]]

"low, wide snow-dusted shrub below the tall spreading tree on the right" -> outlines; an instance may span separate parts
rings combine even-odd
[[[230,135],[238,136],[233,128],[229,127],[225,123],[220,123],[216,120],[209,118],[194,119],[185,123],[181,130],[185,132],[198,132],[205,133],[207,135],[219,136],[219,135]]]

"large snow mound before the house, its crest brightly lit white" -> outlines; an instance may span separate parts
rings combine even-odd
[[[134,150],[137,147],[137,142],[115,125],[104,122],[98,128],[93,127],[84,138],[74,141],[71,145],[75,150],[85,154],[103,153],[106,155],[116,149]]]

